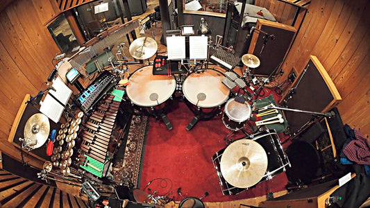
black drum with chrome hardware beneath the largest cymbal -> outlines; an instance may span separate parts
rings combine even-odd
[[[264,173],[264,176],[262,177],[260,182],[270,180],[272,177],[278,175],[278,173],[283,173],[283,171],[286,171],[287,166],[290,166],[289,159],[285,154],[280,143],[280,138],[275,131],[264,131],[253,135],[253,141],[256,141],[258,144],[260,144],[267,154],[267,171],[266,173]],[[220,167],[221,158],[224,154],[225,149],[226,148],[219,150],[215,155],[212,156],[212,163],[217,171],[217,175],[219,176],[219,184],[222,193],[224,195],[235,195],[251,187],[245,189],[238,188],[226,182],[224,176],[221,173]],[[258,182],[257,184],[259,184],[260,182]]]

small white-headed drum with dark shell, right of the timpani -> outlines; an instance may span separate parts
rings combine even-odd
[[[249,103],[239,103],[235,101],[235,98],[231,98],[225,105],[222,122],[226,128],[237,131],[244,127],[244,123],[251,117],[251,114],[252,108]]]

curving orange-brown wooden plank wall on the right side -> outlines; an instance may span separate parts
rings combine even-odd
[[[328,71],[342,103],[344,123],[370,135],[370,1],[313,0],[289,51],[279,80],[301,73],[310,55]],[[319,99],[319,98],[316,98]]]

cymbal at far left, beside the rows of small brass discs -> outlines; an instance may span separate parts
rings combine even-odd
[[[35,145],[30,146],[31,148],[40,148],[47,137],[49,137],[50,123],[47,116],[38,113],[33,114],[24,125],[24,138],[30,139],[31,141],[37,141]]]

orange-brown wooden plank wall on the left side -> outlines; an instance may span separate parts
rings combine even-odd
[[[12,1],[0,12],[0,150],[18,160],[8,135],[24,95],[37,94],[53,69],[59,49],[44,26],[53,15],[51,2],[38,0]],[[31,164],[42,166],[37,160]]]

